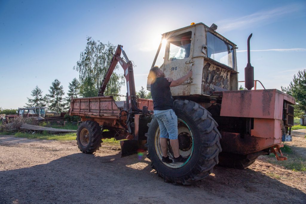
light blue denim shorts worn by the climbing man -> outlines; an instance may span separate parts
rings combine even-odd
[[[173,109],[154,110],[162,138],[177,139],[177,116]]]

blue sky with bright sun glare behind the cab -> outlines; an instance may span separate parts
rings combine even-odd
[[[0,107],[23,107],[36,85],[45,95],[55,79],[66,93],[69,82],[79,76],[73,66],[85,49],[87,36],[124,46],[136,65],[139,91],[146,87],[161,34],[192,22],[215,23],[217,32],[238,46],[239,80],[244,80],[251,33],[254,78],[265,88],[280,90],[306,69],[305,0],[0,0]],[[125,93],[122,87],[121,94]]]

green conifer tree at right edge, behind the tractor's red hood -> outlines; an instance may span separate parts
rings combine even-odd
[[[293,96],[296,101],[294,116],[304,119],[306,117],[306,70],[297,72],[288,87],[281,87],[282,91]]]

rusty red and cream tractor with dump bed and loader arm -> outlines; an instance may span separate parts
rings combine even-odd
[[[245,68],[247,90],[238,90],[237,46],[216,29],[215,24],[208,27],[197,23],[162,34],[152,64],[174,79],[193,71],[192,78],[171,87],[178,117],[180,154],[187,158],[185,163],[162,162],[159,125],[152,114],[152,100],[136,96],[132,62],[121,45],[113,54],[98,97],[71,101],[70,115],[80,116],[83,121],[76,138],[80,151],[95,152],[103,138],[122,140],[122,155],[147,148],[147,157],[157,175],[166,182],[184,185],[202,180],[217,164],[243,169],[258,156],[270,153],[278,160],[286,160],[280,147],[282,141],[291,141],[295,99],[276,89],[251,90],[254,87],[249,48],[252,35],[248,38]],[[118,62],[128,89],[123,107],[118,107],[112,96],[104,96]],[[148,77],[148,90],[151,80]],[[168,146],[168,155],[173,158]]]

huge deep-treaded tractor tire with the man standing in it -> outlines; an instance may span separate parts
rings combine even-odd
[[[148,154],[151,166],[165,182],[174,185],[190,185],[208,176],[218,164],[222,151],[216,121],[198,103],[188,100],[175,100],[174,112],[178,119],[178,139],[180,154],[188,158],[185,163],[163,163],[159,145],[159,125],[155,117],[148,123]],[[173,158],[168,141],[168,155]]]

